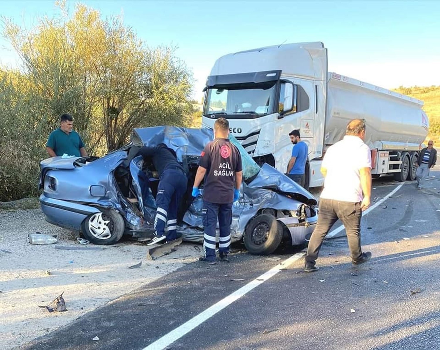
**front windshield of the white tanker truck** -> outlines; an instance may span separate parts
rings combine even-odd
[[[276,82],[209,88],[203,114],[227,118],[258,118],[274,113]]]

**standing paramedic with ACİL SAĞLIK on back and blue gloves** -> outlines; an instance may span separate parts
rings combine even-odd
[[[242,184],[242,157],[228,140],[229,122],[219,118],[214,123],[214,140],[209,142],[200,155],[199,167],[194,180],[193,197],[200,194],[203,186],[203,262],[216,261],[216,226],[220,228],[220,261],[227,262],[231,244],[232,204],[238,200]]]

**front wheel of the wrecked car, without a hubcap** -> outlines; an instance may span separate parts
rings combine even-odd
[[[246,227],[243,242],[250,254],[268,255],[282,240],[282,224],[272,215],[254,217]]]

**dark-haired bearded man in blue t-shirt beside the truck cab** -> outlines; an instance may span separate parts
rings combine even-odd
[[[297,184],[304,187],[305,183],[305,162],[307,161],[308,146],[304,141],[301,141],[301,134],[299,130],[293,130],[289,133],[290,141],[292,142],[292,158],[290,158],[287,166],[287,176],[290,177]]]

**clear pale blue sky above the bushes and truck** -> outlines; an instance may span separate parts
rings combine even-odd
[[[70,12],[77,1],[67,0]],[[221,55],[282,42],[323,41],[329,70],[385,88],[440,85],[440,1],[82,1],[103,17],[123,15],[146,44],[178,46],[197,79]],[[55,1],[0,0],[18,24],[58,12]],[[0,40],[0,63],[16,56]]]

